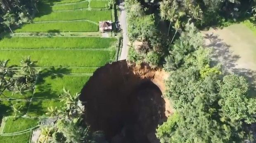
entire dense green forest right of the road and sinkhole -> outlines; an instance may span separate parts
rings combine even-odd
[[[222,73],[204,48],[198,29],[243,20],[255,24],[254,0],[126,0],[129,60],[170,73],[166,97],[175,113],[156,130],[161,143],[241,143],[253,141],[256,99],[242,76]],[[164,24],[163,22],[164,21]],[[165,30],[161,27],[166,25]]]

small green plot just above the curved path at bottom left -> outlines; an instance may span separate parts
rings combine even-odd
[[[14,133],[24,131],[38,125],[37,118],[7,118],[5,121],[5,129],[3,133]]]

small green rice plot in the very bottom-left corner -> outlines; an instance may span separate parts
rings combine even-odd
[[[30,132],[14,136],[0,136],[1,143],[29,143]]]

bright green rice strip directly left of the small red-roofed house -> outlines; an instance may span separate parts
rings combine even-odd
[[[97,32],[99,26],[88,21],[30,23],[15,32]]]

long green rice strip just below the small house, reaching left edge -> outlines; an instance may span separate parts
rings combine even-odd
[[[0,40],[0,49],[109,48],[115,42],[115,38],[100,37],[6,37]]]

